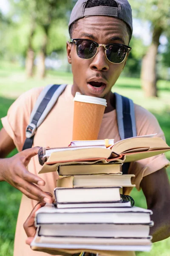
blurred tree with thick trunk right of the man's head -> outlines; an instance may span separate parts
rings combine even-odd
[[[133,17],[150,21],[152,42],[142,59],[141,79],[145,96],[157,97],[156,55],[159,38],[168,33],[170,26],[170,0],[130,0]]]

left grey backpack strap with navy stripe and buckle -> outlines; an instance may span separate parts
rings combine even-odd
[[[67,84],[48,85],[42,90],[31,112],[29,124],[26,127],[26,140],[22,150],[32,147],[37,128],[51,111],[51,108],[53,108],[66,85]]]

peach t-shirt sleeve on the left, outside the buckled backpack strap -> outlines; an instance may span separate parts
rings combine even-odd
[[[8,109],[7,116],[1,118],[3,128],[14,141],[18,151],[23,148],[31,111],[42,89],[33,88],[23,93]]]

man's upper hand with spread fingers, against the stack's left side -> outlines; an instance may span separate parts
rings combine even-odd
[[[14,155],[13,157],[0,159],[0,181],[6,181],[19,189],[28,198],[36,201],[52,203],[52,195],[43,192],[35,184],[44,186],[45,181],[40,177],[28,172],[26,166],[38,154],[40,147],[28,148]]]

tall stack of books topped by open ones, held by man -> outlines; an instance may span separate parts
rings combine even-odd
[[[58,180],[56,203],[36,213],[33,250],[53,248],[56,254],[150,250],[152,211],[121,200],[122,188],[135,186],[131,183],[134,175],[122,175],[121,167],[129,156],[138,160],[169,147],[160,138],[136,139],[138,146],[131,138],[114,145],[113,140],[91,145],[73,142],[68,148],[40,150],[40,163],[45,160],[40,173],[56,171]]]

